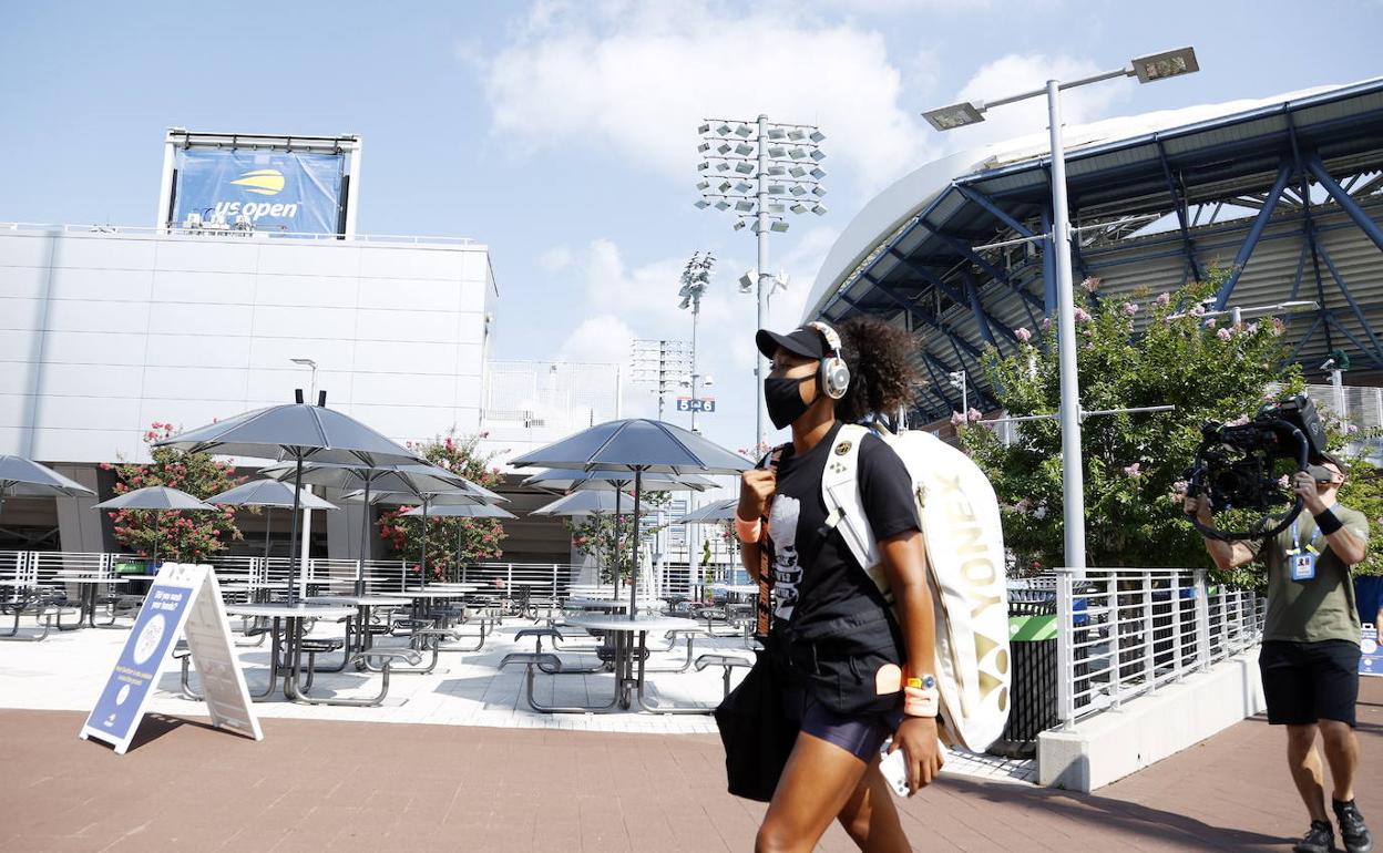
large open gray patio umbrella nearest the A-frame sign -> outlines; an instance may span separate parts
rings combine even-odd
[[[295,498],[301,494],[304,462],[343,462],[378,467],[382,465],[412,465],[422,458],[404,449],[364,423],[326,408],[326,393],[319,405],[297,402],[236,415],[195,430],[178,433],[154,447],[171,447],[191,453],[220,453],[225,456],[254,456],[259,459],[292,460],[297,470],[293,477]],[[297,510],[293,500],[293,532],[289,535],[288,600],[297,597]]]

